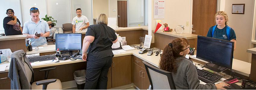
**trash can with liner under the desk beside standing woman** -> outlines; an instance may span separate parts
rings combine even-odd
[[[84,89],[86,70],[76,70],[74,72],[74,79],[78,90]]]

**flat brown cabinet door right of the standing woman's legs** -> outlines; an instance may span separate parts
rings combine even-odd
[[[131,84],[131,55],[115,57],[111,65],[112,88]]]

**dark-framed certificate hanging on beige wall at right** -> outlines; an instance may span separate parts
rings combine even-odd
[[[232,14],[245,14],[245,4],[232,4]]]

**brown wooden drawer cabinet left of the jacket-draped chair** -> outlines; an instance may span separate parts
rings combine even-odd
[[[11,79],[8,78],[8,72],[0,73],[0,89],[11,89]]]

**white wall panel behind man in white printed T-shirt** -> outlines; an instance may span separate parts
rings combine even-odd
[[[71,0],[71,16],[72,19],[77,16],[76,9],[81,8],[82,15],[86,16],[89,24],[92,25],[92,0]]]

